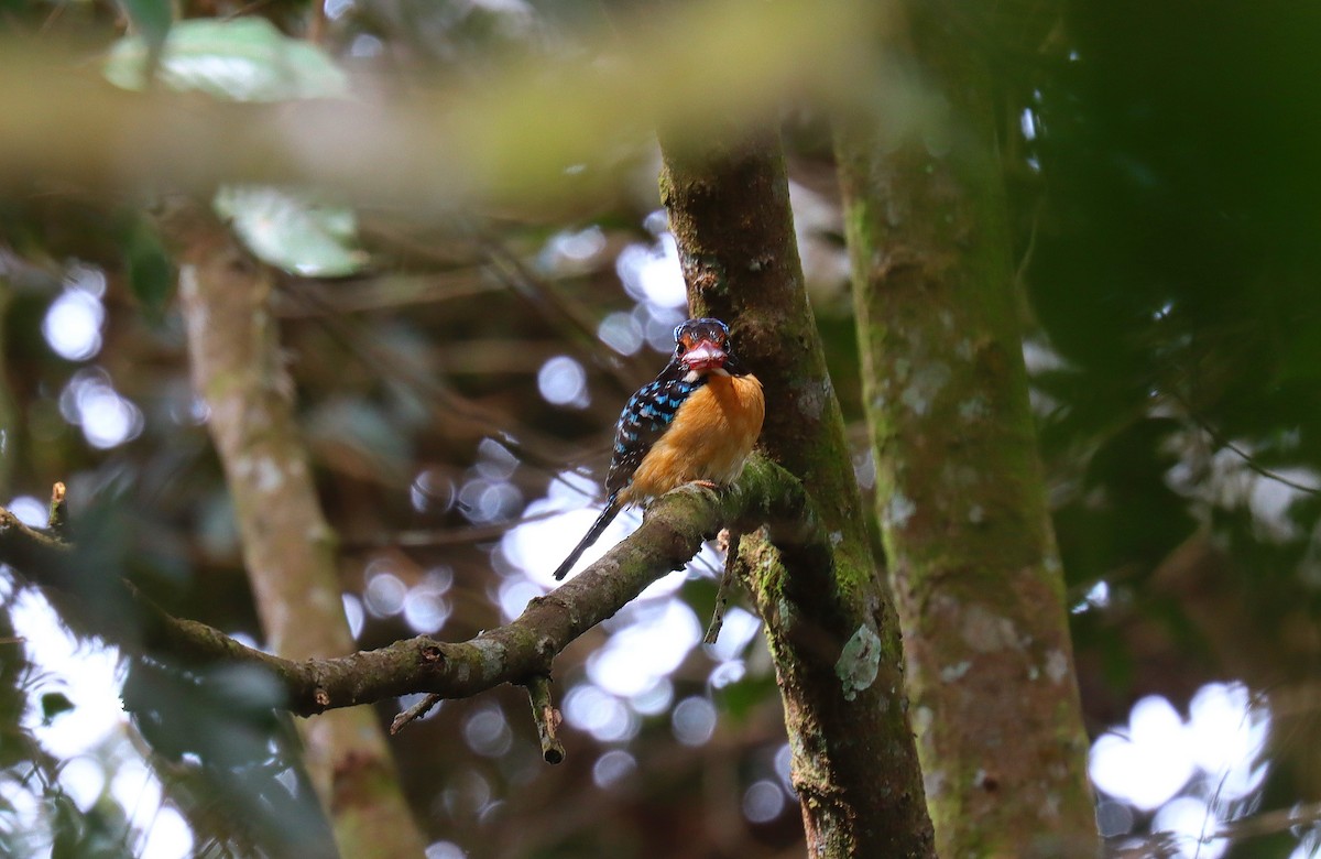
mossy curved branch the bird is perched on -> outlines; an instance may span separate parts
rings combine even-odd
[[[11,514],[0,509],[0,522]],[[173,617],[135,585],[124,595],[140,611],[136,638],[141,650],[185,665],[243,663],[269,671],[284,687],[289,711],[314,714],[367,704],[413,692],[468,698],[502,683],[532,683],[548,677],[555,657],[575,638],[612,617],[649,584],[683,566],[701,542],[728,523],[752,530],[770,526],[770,539],[785,552],[818,555],[828,567],[828,543],[802,485],[778,465],[753,457],[734,486],[716,493],[683,486],[658,500],[642,526],[604,558],[551,593],[534,599],[514,621],[464,642],[428,636],[386,648],[321,659],[284,659],[248,648],[218,629]],[[22,530],[24,537],[28,530]],[[36,533],[48,551],[67,554],[67,543]],[[0,552],[8,562],[9,552]],[[30,562],[34,555],[26,555]],[[29,567],[29,564],[24,564]],[[41,570],[24,568],[38,584]],[[69,580],[63,579],[67,587]],[[119,636],[116,636],[119,638]]]

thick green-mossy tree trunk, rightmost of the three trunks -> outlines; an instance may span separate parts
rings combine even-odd
[[[1087,736],[995,102],[976,46],[937,17],[915,11],[898,50],[947,99],[946,120],[898,147],[882,143],[884,118],[836,135],[913,724],[942,856],[1086,856],[1098,847]]]

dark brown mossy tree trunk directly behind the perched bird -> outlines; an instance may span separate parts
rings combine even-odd
[[[732,325],[766,390],[761,447],[803,481],[830,539],[801,556],[745,539],[812,856],[930,856],[931,823],[896,615],[872,556],[826,373],[774,133],[700,147],[663,133],[662,200],[694,315]]]

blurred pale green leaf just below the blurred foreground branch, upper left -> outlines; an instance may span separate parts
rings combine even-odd
[[[354,247],[358,223],[346,206],[264,185],[222,188],[213,205],[254,254],[288,272],[337,278],[361,271],[367,262]]]

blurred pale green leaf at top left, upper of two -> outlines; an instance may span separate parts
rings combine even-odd
[[[151,53],[145,34],[120,40],[106,61],[106,78],[125,90],[145,89]],[[165,40],[159,75],[168,89],[232,102],[349,94],[347,77],[320,48],[289,38],[258,17],[180,21]]]

